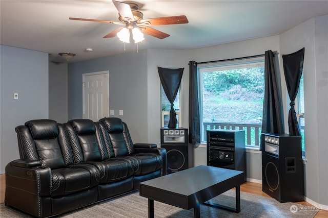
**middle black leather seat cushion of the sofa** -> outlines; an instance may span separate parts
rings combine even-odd
[[[124,159],[109,158],[100,162],[87,162],[95,164],[104,171],[104,176],[100,178],[100,184],[108,184],[127,179],[133,175],[133,168],[129,161]]]

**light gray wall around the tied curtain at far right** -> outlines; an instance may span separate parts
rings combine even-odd
[[[291,54],[302,47],[305,47],[305,157],[308,160],[305,195],[328,205],[328,15],[312,18],[281,34],[281,54]],[[287,107],[285,111],[288,110]]]

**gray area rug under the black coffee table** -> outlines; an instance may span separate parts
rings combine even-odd
[[[235,208],[235,191],[229,190],[213,199],[214,203]],[[296,203],[279,203],[275,199],[256,196],[240,192],[240,213],[200,205],[200,217],[314,217],[318,208],[303,206]],[[190,218],[194,210],[183,210],[178,207],[154,201],[154,216],[170,218]],[[0,205],[0,217],[31,217],[26,213]],[[82,218],[82,217],[148,217],[148,199],[139,196],[139,191],[134,191],[110,200],[99,202],[88,207],[61,214],[56,217]]]

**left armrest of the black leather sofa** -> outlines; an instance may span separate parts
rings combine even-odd
[[[14,160],[6,166],[6,186],[24,190],[37,196],[51,193],[51,168],[32,160]]]

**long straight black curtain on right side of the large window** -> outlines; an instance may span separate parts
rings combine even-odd
[[[266,51],[264,57],[264,100],[261,132],[283,134],[283,110],[279,81],[274,67],[274,53],[271,50]],[[260,150],[264,150],[262,135]]]

